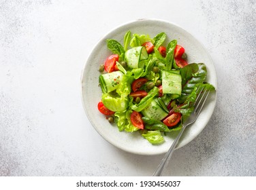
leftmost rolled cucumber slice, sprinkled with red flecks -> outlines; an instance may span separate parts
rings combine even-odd
[[[114,71],[112,73],[106,73],[99,75],[99,85],[103,93],[112,92],[118,88],[120,81],[123,78],[121,71]]]

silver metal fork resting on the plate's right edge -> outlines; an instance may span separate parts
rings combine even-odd
[[[176,145],[178,144],[178,140],[180,139],[180,136],[184,132],[185,128],[187,128],[187,126],[194,123],[195,120],[197,119],[200,111],[202,110],[202,107],[204,106],[204,102],[206,102],[209,92],[210,92],[209,90],[204,90],[204,88],[202,88],[202,90],[199,90],[199,94],[195,100],[193,112],[191,113],[189,118],[185,121],[185,123],[182,124],[182,129],[180,130],[180,133],[178,134],[178,136],[172,143],[172,146],[170,147],[170,149],[167,151],[167,153],[165,153],[165,156],[161,160],[161,163],[157,167],[157,170],[155,170],[155,173],[153,174],[153,176],[162,176],[165,168],[169,164],[169,161],[172,157],[172,153],[174,152],[174,149],[176,148]]]

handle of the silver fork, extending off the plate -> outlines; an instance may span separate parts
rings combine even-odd
[[[184,132],[185,128],[186,128],[186,126],[182,127],[182,129],[180,130],[180,133],[178,134],[178,136],[176,137],[176,139],[172,143],[172,146],[167,151],[167,153],[165,153],[165,156],[161,160],[161,162],[160,162],[159,166],[157,167],[157,170],[155,170],[155,173],[153,174],[153,176],[162,176],[165,168],[169,164],[169,161],[170,161],[170,159],[172,157],[172,153],[174,153],[174,149],[175,149],[176,145],[178,144],[178,140],[180,139],[180,136]]]

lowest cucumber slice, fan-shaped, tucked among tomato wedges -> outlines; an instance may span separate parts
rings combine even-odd
[[[154,98],[150,102],[148,107],[143,109],[141,113],[146,117],[157,119],[160,121],[161,119],[165,118],[168,115],[168,112],[165,111],[165,109],[163,109],[155,100],[156,98]]]

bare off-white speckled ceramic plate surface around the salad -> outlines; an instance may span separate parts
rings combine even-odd
[[[114,124],[110,124],[106,117],[97,110],[97,104],[101,100],[101,88],[98,86],[99,64],[102,64],[106,57],[111,54],[106,46],[106,39],[116,39],[123,44],[123,37],[128,30],[131,33],[148,34],[150,37],[155,37],[158,33],[165,32],[167,35],[165,42],[177,39],[178,44],[185,48],[189,62],[204,62],[206,64],[208,70],[207,81],[216,88],[217,75],[212,59],[204,46],[180,26],[164,20],[136,20],[123,24],[110,31],[95,45],[86,61],[81,76],[82,102],[89,121],[103,138],[119,149],[140,155],[158,155],[165,153],[169,149],[177,132],[164,136],[165,142],[163,144],[151,145],[139,132],[119,132],[118,128]],[[202,113],[197,121],[182,134],[176,149],[187,145],[202,132],[214,111],[216,100],[216,92],[211,93],[205,107],[202,109]]]

